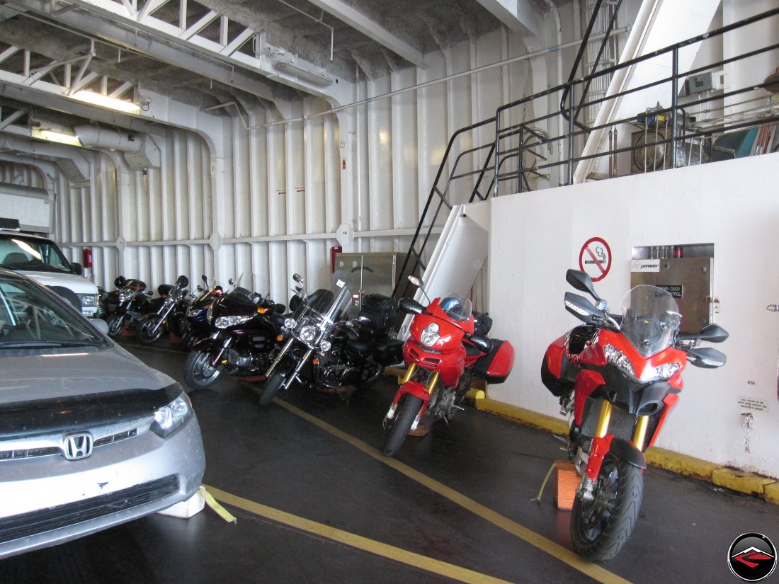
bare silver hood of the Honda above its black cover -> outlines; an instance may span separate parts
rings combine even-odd
[[[0,352],[0,404],[125,389],[162,389],[174,383],[116,346],[78,352],[25,352],[19,356],[4,353]]]

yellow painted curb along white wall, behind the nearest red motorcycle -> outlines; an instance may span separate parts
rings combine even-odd
[[[568,423],[565,420],[498,402],[495,399],[486,397],[478,399],[476,408],[521,424],[541,428],[541,430],[552,432],[552,434],[568,434]],[[665,449],[653,447],[648,449],[646,454],[647,463],[657,466],[657,468],[670,470],[686,477],[706,480],[718,487],[731,489],[731,491],[757,495],[765,501],[779,505],[779,482],[776,479],[724,468],[706,460]]]

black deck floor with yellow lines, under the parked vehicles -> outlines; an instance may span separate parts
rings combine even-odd
[[[183,382],[182,351],[123,344]],[[192,392],[204,483],[236,523],[209,508],[153,515],[0,561],[0,582],[738,582],[735,537],[779,544],[779,506],[650,468],[633,537],[589,564],[571,551],[552,487],[530,501],[562,442],[467,407],[386,459],[393,382],[346,400],[293,388],[266,409],[233,378]]]

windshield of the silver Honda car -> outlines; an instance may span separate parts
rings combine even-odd
[[[86,320],[31,280],[0,274],[0,350],[104,344]]]

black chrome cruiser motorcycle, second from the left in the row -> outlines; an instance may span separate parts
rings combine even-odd
[[[179,338],[186,326],[187,306],[189,305],[189,278],[178,276],[173,285],[160,284],[157,287],[159,298],[150,301],[150,312],[139,318],[137,339],[144,345],[151,345],[165,332],[171,332]]]

